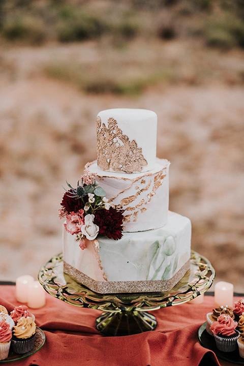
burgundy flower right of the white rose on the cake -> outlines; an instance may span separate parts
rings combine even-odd
[[[123,236],[123,215],[122,212],[110,206],[108,210],[95,211],[94,224],[99,226],[99,234],[114,240]]]

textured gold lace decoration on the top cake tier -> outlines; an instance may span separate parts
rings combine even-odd
[[[97,158],[101,169],[117,172],[140,172],[147,165],[141,147],[123,134],[112,117],[108,119],[108,127],[97,117]]]

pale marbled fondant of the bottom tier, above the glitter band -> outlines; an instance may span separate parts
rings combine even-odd
[[[97,237],[100,264],[92,242],[82,251],[64,234],[64,261],[96,281],[104,281],[103,273],[108,281],[169,280],[190,258],[191,222],[170,211],[160,229],[124,232],[119,240]]]

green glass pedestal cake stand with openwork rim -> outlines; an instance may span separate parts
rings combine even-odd
[[[63,272],[63,254],[39,271],[39,282],[52,296],[78,307],[102,310],[96,328],[105,335],[129,335],[154,330],[156,317],[147,313],[192,300],[212,285],[215,270],[208,259],[191,252],[190,269],[169,292],[99,294]]]

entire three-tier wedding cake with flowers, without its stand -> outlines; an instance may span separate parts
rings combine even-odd
[[[170,163],[156,139],[153,111],[101,111],[97,161],[68,184],[64,271],[95,292],[168,291],[190,267],[191,222],[168,210]]]

